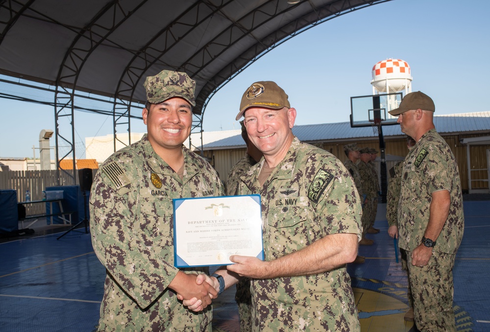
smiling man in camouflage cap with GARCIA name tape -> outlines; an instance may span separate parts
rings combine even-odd
[[[211,331],[211,310],[189,311],[176,295],[197,297],[206,307],[217,292],[196,285],[196,274],[208,269],[173,264],[172,198],[223,193],[216,171],[182,145],[195,86],[183,72],[147,77],[148,134],[110,156],[95,177],[92,243],[107,269],[100,331]]]

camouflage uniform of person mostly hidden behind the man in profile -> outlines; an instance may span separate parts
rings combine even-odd
[[[401,191],[401,173],[403,171],[403,162],[397,163],[390,168],[390,181],[388,182],[388,192],[386,194],[386,219],[388,226],[398,226],[398,201]],[[401,268],[408,273],[407,252],[400,248]],[[407,287],[407,300],[409,308],[414,307],[414,299],[412,297],[412,288],[410,283]]]

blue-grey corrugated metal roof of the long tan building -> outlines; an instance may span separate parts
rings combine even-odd
[[[490,112],[435,115],[434,124],[439,133],[490,132]],[[303,142],[378,138],[371,127],[351,128],[350,122],[295,125],[293,134]],[[405,134],[401,132],[400,126],[391,125],[383,127],[383,135],[393,137]],[[204,150],[245,147],[241,130],[203,132],[202,138]]]

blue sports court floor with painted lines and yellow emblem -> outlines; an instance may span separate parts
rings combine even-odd
[[[464,206],[465,235],[453,272],[456,325],[458,331],[490,331],[490,201],[465,201]],[[384,215],[380,204],[374,226],[381,232],[368,234],[374,244],[359,249],[366,262],[348,265],[361,330],[417,331],[403,321],[407,277],[395,260]],[[57,240],[60,234],[1,241],[0,331],[96,329],[105,270],[90,234],[75,230]],[[233,288],[213,306],[215,331],[239,331]]]

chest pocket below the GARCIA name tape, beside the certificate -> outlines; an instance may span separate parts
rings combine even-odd
[[[137,232],[146,246],[173,245],[173,215],[165,215],[157,206],[162,202],[145,202],[141,204],[141,215]],[[161,211],[161,215],[159,215]]]

